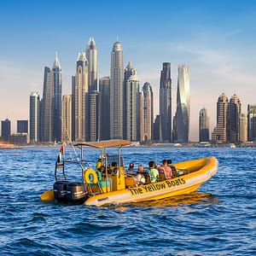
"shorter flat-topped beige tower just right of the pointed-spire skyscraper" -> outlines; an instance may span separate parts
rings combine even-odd
[[[61,142],[71,143],[72,96],[63,95],[61,102]]]

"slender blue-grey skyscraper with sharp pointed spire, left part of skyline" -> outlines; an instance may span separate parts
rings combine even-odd
[[[52,67],[54,85],[53,103],[53,141],[61,142],[61,96],[62,96],[62,74],[61,65],[57,55]]]

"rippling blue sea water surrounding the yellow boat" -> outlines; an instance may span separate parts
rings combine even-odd
[[[123,148],[125,166],[211,155],[219,170],[191,195],[108,207],[40,201],[59,149],[0,150],[1,255],[255,255],[256,148]]]

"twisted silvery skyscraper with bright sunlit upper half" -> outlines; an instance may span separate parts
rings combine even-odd
[[[175,143],[189,143],[190,87],[189,67],[177,67],[177,109],[173,120]]]

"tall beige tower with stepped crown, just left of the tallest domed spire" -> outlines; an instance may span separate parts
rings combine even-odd
[[[85,96],[88,92],[88,61],[85,53],[80,52],[77,59],[76,73],[72,78],[73,102],[73,141],[86,140],[86,105]]]

